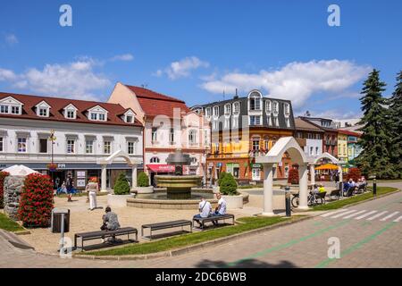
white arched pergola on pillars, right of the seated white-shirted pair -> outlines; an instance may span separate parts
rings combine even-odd
[[[298,145],[296,139],[293,137],[282,137],[279,139],[272,149],[265,156],[256,156],[255,163],[263,164],[264,166],[264,212],[263,215],[274,215],[272,209],[273,198],[273,172],[274,164],[279,164],[282,160],[283,154],[289,153],[292,162],[298,164],[298,178],[299,178],[299,209],[308,209],[308,167],[310,167],[311,184],[315,184],[315,164],[322,158],[328,158],[332,163],[339,165],[339,180],[342,180],[342,168],[340,167],[339,160],[329,153],[323,153],[322,156],[311,157],[306,156],[303,149]]]

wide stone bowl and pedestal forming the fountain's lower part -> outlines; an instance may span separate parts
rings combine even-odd
[[[168,199],[188,199],[191,198],[191,188],[201,185],[203,176],[185,175],[156,175],[156,185],[166,188]]]

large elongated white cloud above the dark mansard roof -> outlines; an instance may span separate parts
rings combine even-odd
[[[368,66],[349,61],[294,62],[277,71],[230,72],[219,80],[206,80],[201,87],[212,93],[234,92],[235,88],[244,92],[261,88],[271,97],[289,99],[295,107],[300,107],[316,92],[342,92],[370,70]]]

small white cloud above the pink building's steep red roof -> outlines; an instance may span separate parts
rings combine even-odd
[[[176,80],[179,78],[187,78],[191,74],[191,71],[197,70],[198,68],[207,68],[208,66],[209,63],[201,61],[197,56],[189,56],[178,62],[171,63],[170,66],[164,70],[156,71],[155,75],[161,76],[164,72],[171,80]]]

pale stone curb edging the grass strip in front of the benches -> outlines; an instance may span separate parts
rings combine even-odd
[[[177,257],[180,256],[181,254],[184,253],[188,253],[190,251],[193,250],[197,250],[197,249],[202,249],[202,248],[208,248],[212,245],[220,245],[223,244],[225,242],[228,241],[232,241],[232,240],[238,240],[240,238],[245,238],[247,236],[253,235],[255,233],[260,233],[260,232],[264,232],[264,231],[270,231],[270,230],[274,230],[274,229],[278,229],[281,228],[283,226],[287,226],[289,224],[293,224],[293,223],[299,223],[299,222],[303,222],[305,220],[308,219],[312,219],[314,218],[314,215],[309,215],[306,217],[301,217],[298,218],[296,221],[288,221],[288,222],[283,222],[283,223],[275,223],[272,225],[268,225],[265,226],[264,228],[260,228],[260,229],[255,229],[255,230],[251,230],[251,231],[245,231],[245,232],[240,232],[240,233],[236,233],[233,235],[230,235],[228,237],[224,237],[224,238],[220,238],[220,239],[216,239],[216,240],[209,240],[209,241],[205,241],[205,242],[201,242],[198,244],[194,244],[188,247],[184,247],[184,248],[177,248],[177,249],[172,249],[169,251],[163,251],[163,252],[157,252],[154,254],[148,254],[148,255],[128,255],[128,256],[87,256],[87,255],[73,255],[74,258],[83,258],[83,259],[89,259],[89,260],[145,260],[145,259],[153,259],[153,258],[160,258],[160,257]]]

